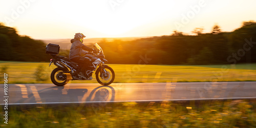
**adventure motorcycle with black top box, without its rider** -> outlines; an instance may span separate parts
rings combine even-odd
[[[57,48],[56,48],[57,47]],[[92,80],[92,74],[95,71],[96,80],[101,85],[110,85],[113,83],[115,79],[114,70],[105,65],[105,62],[108,62],[105,59],[102,48],[96,43],[94,44],[94,51],[89,52],[84,57],[92,58],[97,57],[96,61],[94,61],[89,67],[84,71],[86,76],[80,75],[80,65],[73,61],[70,61],[68,58],[63,56],[58,56],[59,46],[56,44],[48,44],[46,47],[46,53],[50,54],[53,59],[50,60],[49,67],[53,63],[57,66],[51,73],[51,81],[56,86],[64,86],[69,81],[74,80]]]

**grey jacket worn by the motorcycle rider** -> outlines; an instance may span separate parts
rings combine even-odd
[[[72,43],[72,41],[71,41],[71,43]],[[87,53],[84,50],[87,50],[87,51],[90,51],[90,52],[93,51],[92,48],[82,44],[79,40],[75,39],[75,41],[72,43],[71,48],[70,48],[69,59],[73,59],[73,58],[76,58],[76,57],[81,57],[82,54]]]

